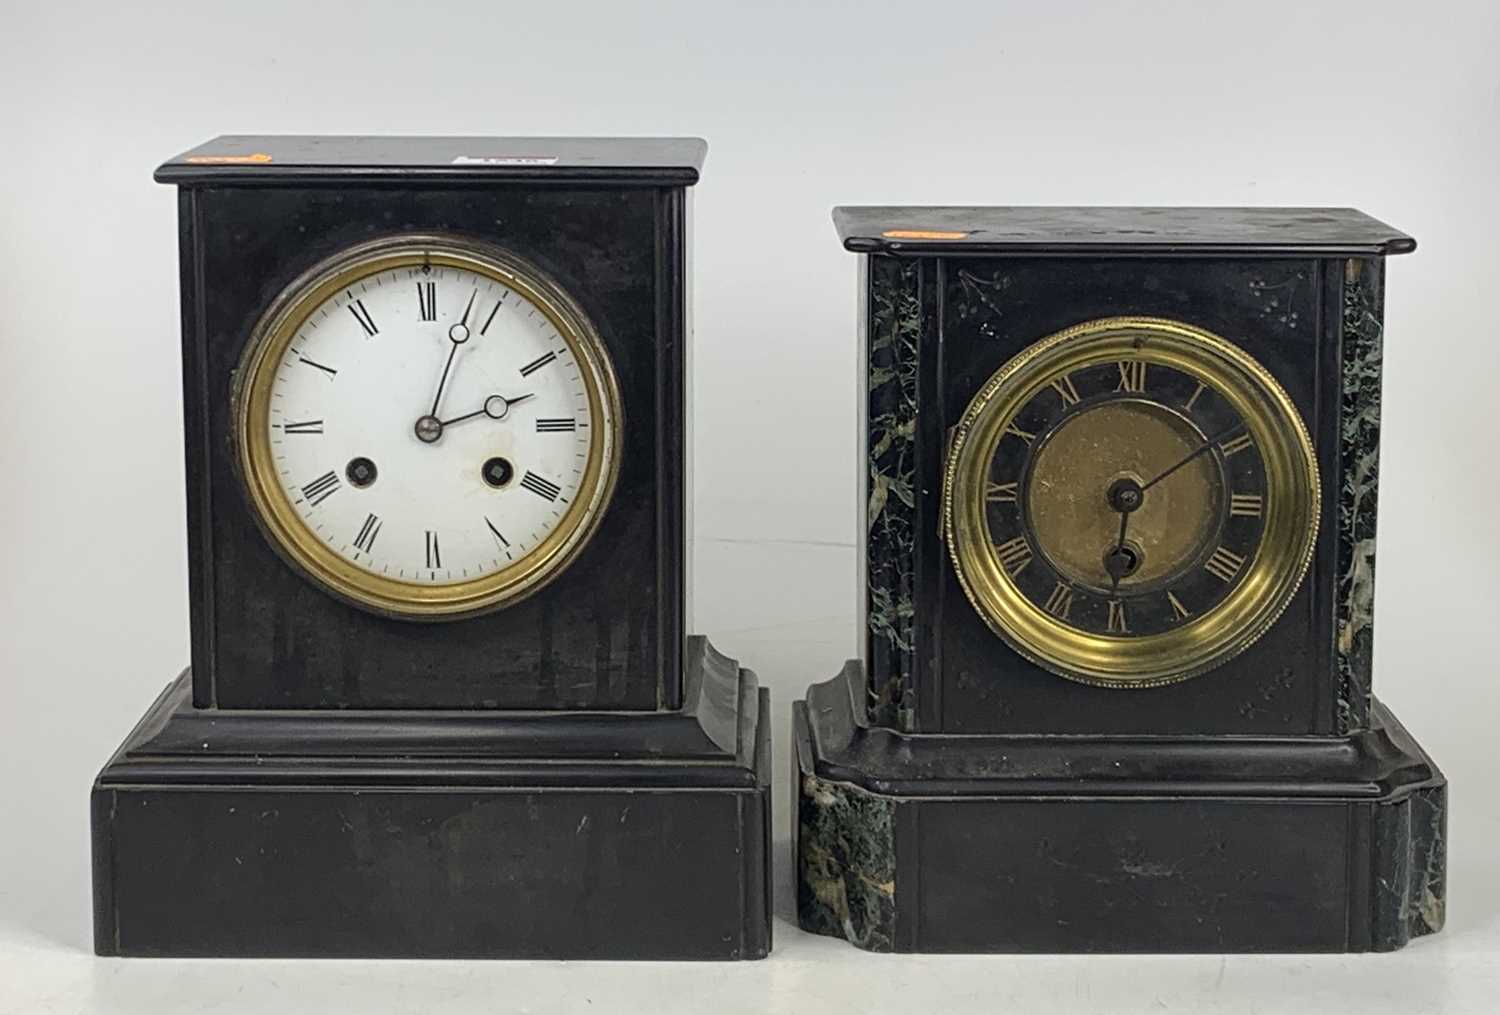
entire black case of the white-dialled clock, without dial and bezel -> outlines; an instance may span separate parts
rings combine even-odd
[[[178,189],[192,666],[99,774],[100,955],[758,958],[770,727],[688,637],[696,138],[222,136]],[[236,474],[250,330],[392,234],[501,246],[620,381],[615,493],[572,565],[480,616],[360,610],[294,571]]]

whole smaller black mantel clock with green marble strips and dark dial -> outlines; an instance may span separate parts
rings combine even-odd
[[[1353,210],[840,208],[864,652],[794,706],[802,927],[1384,951],[1446,783],[1371,694],[1384,258]]]

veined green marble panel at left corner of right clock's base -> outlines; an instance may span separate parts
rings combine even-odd
[[[806,772],[798,796],[798,924],[873,952],[892,951],[896,801]]]

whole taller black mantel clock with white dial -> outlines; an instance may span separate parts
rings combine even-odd
[[[192,667],[94,784],[100,954],[766,954],[766,694],[687,619],[704,151],[224,136],[158,171]]]

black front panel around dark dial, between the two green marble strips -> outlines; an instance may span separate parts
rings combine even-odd
[[[1330,733],[1338,727],[1330,589],[1344,370],[1344,261],[1282,258],[891,258],[934,298],[918,321],[912,490],[916,729],[1050,733]],[[1323,472],[1312,564],[1276,624],[1228,663],[1143,693],[1088,687],[1010,652],[980,618],[940,540],[946,433],[1011,357],[1062,328],[1116,315],[1203,327],[1248,352],[1292,397]],[[926,381],[926,387],[921,387]],[[1329,435],[1329,436],[1324,436]],[[870,550],[870,573],[876,553]],[[888,564],[885,567],[890,567]],[[879,657],[872,654],[879,679]]]

